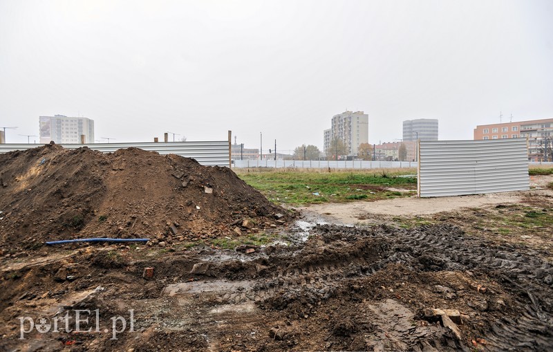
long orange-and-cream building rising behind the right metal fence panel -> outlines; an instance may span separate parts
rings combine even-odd
[[[529,160],[551,160],[553,118],[482,124],[474,129],[474,140],[528,138]]]

